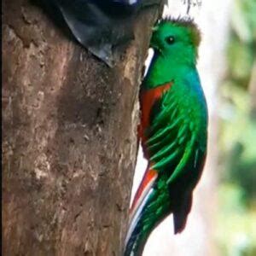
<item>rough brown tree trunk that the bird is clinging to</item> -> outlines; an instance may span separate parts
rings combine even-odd
[[[150,26],[110,69],[28,0],[3,0],[3,255],[119,255]]]

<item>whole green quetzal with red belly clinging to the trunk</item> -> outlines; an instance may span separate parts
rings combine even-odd
[[[170,213],[182,232],[207,154],[207,102],[196,70],[201,35],[193,20],[154,27],[154,56],[140,91],[139,136],[148,168],[131,205],[125,256],[142,255],[148,236]]]

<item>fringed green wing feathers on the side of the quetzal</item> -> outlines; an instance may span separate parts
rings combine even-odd
[[[177,97],[167,91],[152,109],[151,124],[146,142],[152,169],[168,173],[167,183],[190,172],[200,161],[200,142],[197,141],[195,119],[189,109],[183,108]],[[188,169],[188,163],[194,166]],[[166,174],[165,174],[166,175]]]

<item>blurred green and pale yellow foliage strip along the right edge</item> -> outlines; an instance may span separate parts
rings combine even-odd
[[[221,255],[256,255],[256,0],[233,0],[227,71],[219,86]]]

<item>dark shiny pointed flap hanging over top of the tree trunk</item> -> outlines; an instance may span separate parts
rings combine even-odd
[[[166,0],[41,0],[52,16],[61,15],[73,36],[110,67],[119,59],[114,49],[133,38],[139,12]]]

